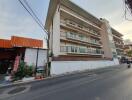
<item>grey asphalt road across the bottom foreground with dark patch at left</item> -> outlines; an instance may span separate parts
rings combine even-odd
[[[132,68],[110,68],[27,84],[21,93],[0,100],[132,100]],[[20,86],[19,86],[20,87]]]

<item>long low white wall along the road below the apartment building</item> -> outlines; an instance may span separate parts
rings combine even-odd
[[[113,61],[52,61],[51,75],[59,75],[73,71],[92,70],[118,64],[118,59]]]

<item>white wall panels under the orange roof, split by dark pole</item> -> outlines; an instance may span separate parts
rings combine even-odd
[[[27,48],[24,61],[27,65],[36,65],[37,49]],[[44,66],[47,59],[47,50],[40,49],[38,52],[38,66]]]

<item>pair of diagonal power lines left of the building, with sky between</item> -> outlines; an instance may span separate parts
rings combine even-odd
[[[24,3],[21,1],[21,0],[18,0],[19,1],[19,3],[22,5],[22,7],[30,14],[30,16],[34,19],[34,21],[39,25],[39,27],[47,34],[47,31],[44,29],[44,26],[41,24],[41,22],[40,22],[40,20],[39,20],[39,18],[36,16],[36,14],[33,12],[33,10],[31,9],[31,7],[29,6],[29,5],[27,5],[27,6],[29,6],[28,8],[30,8],[30,10],[31,10],[31,12],[30,12],[30,10],[28,10],[27,9],[27,7],[24,5]],[[26,2],[25,2],[26,3]],[[47,34],[48,35],[48,34]],[[47,39],[47,38],[45,38],[45,39]]]

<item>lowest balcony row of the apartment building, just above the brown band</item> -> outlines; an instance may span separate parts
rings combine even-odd
[[[60,52],[70,54],[85,54],[85,55],[103,55],[104,52],[101,49],[93,49],[79,46],[61,46]]]

